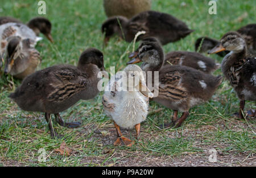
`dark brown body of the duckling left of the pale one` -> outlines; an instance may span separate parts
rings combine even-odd
[[[80,100],[86,76],[72,65],[56,65],[32,73],[10,95],[21,109],[59,113]]]

